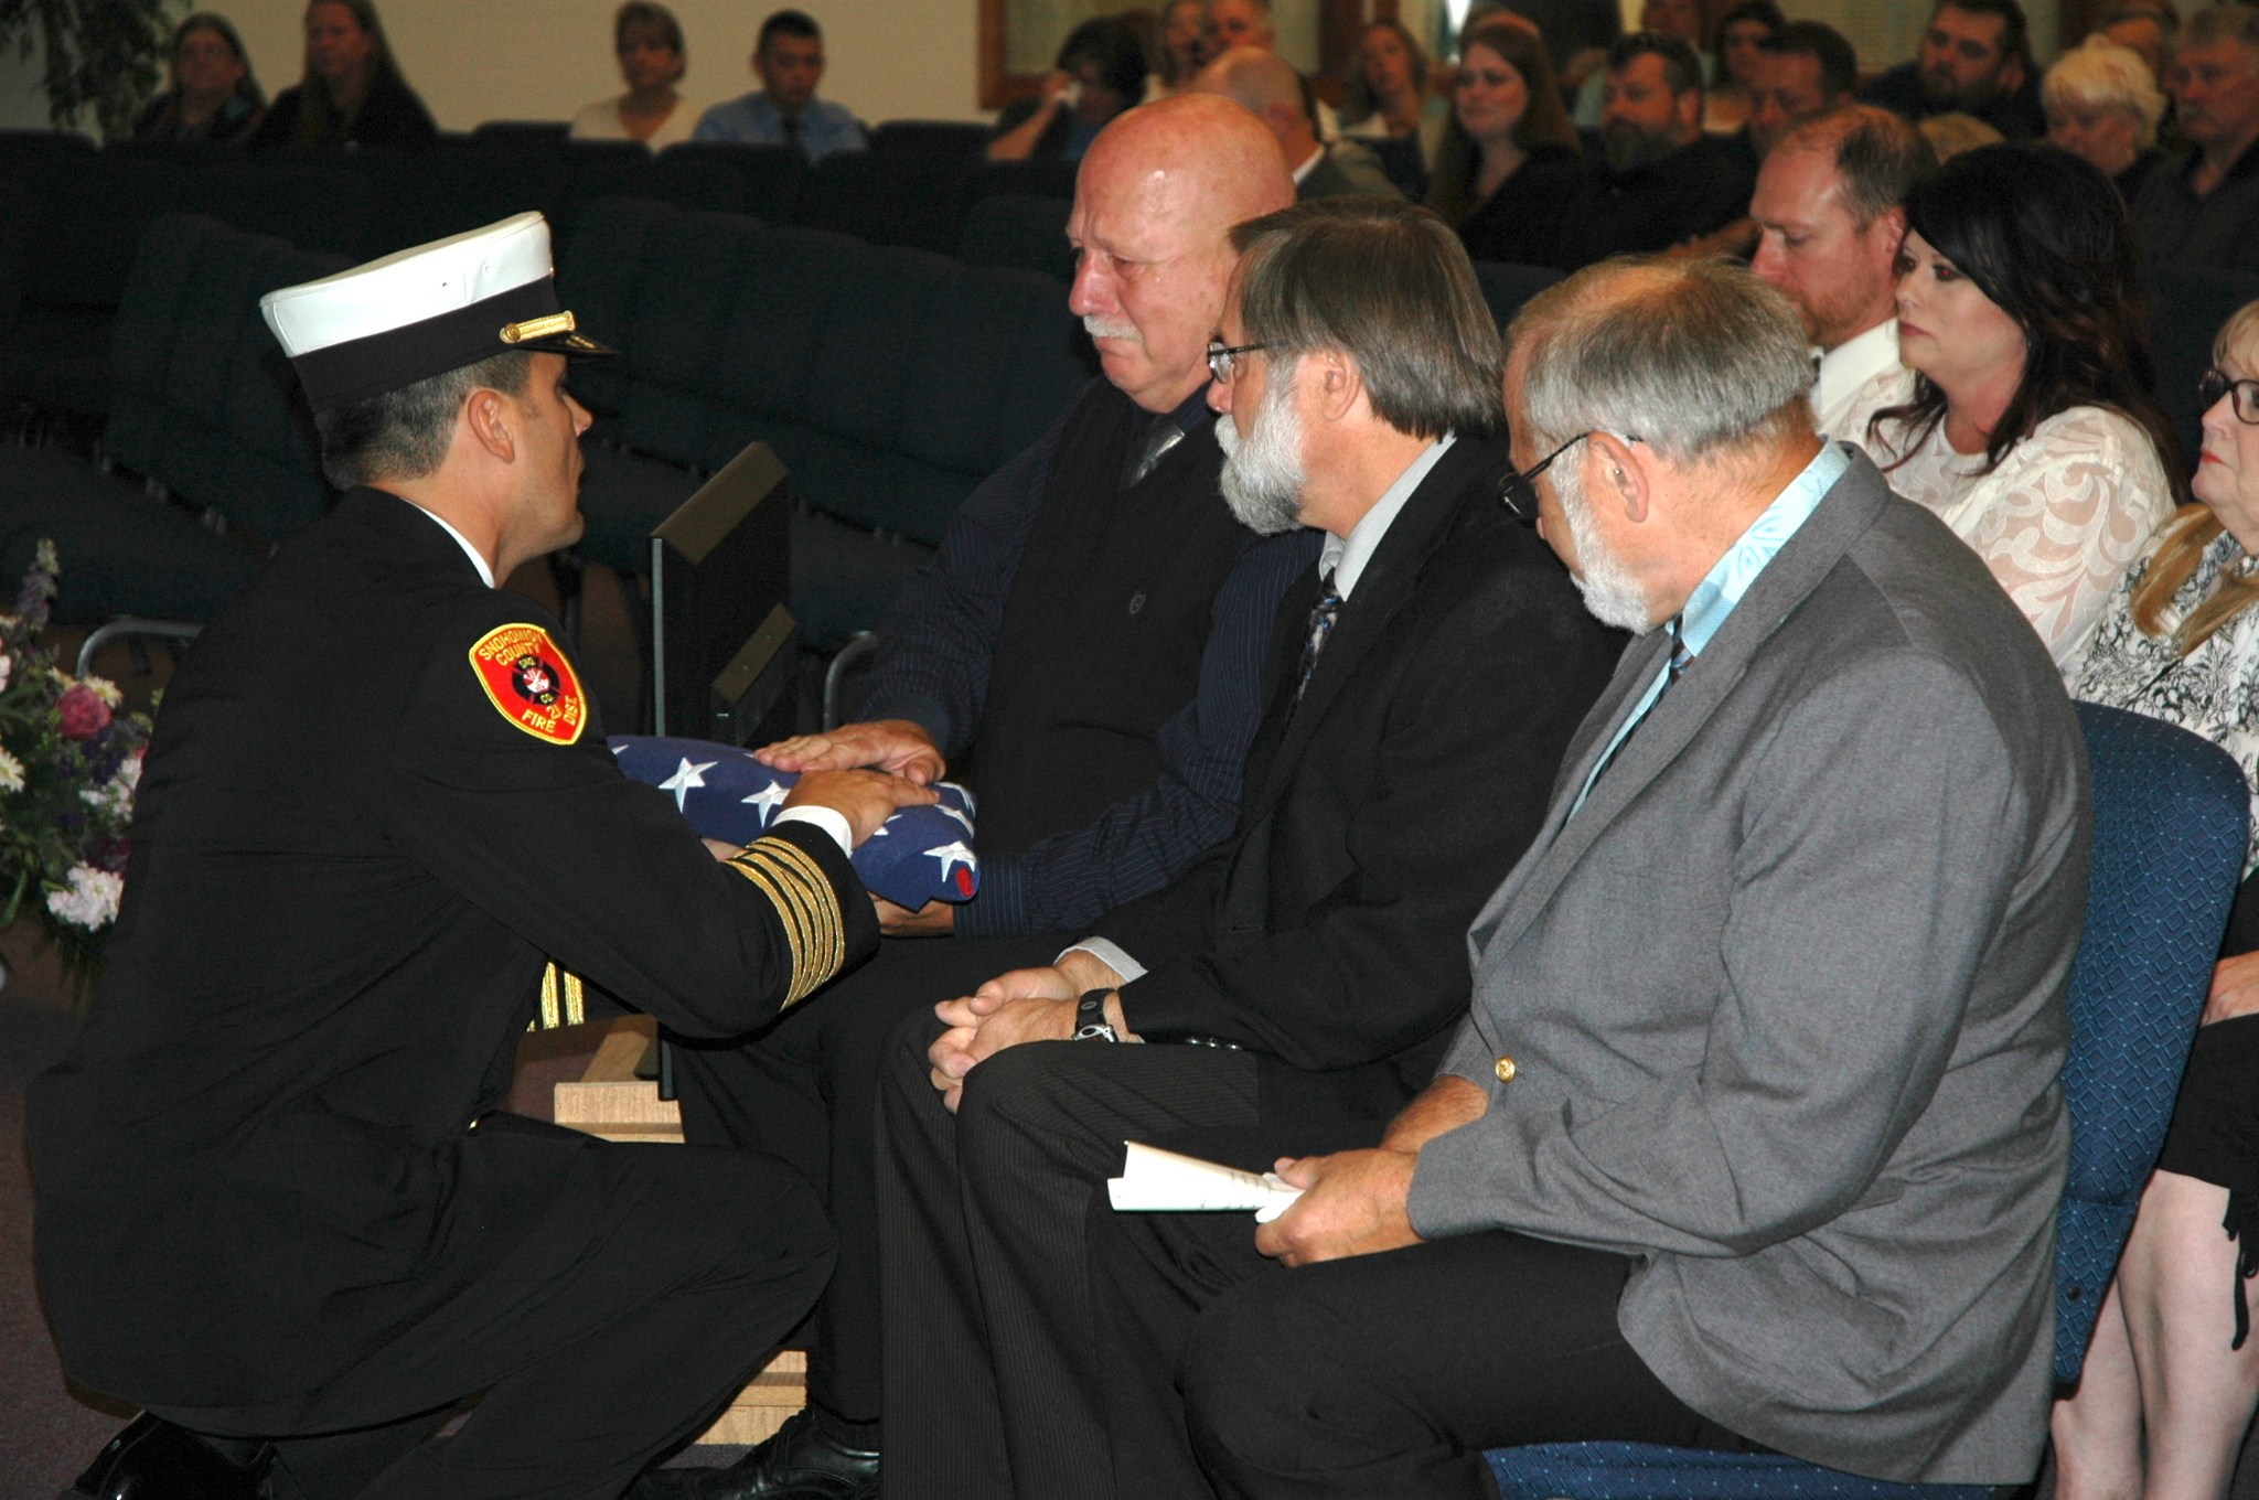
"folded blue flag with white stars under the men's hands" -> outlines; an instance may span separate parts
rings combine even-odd
[[[614,734],[623,775],[675,800],[703,838],[748,845],[768,831],[800,782],[770,770],[750,750],[703,739]],[[974,854],[974,795],[953,782],[933,788],[931,806],[906,806],[854,852],[856,874],[872,895],[917,910],[926,901],[969,901],[980,890]]]

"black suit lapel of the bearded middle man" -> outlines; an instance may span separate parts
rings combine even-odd
[[[1480,495],[1473,502],[1466,497],[1471,479],[1477,472],[1498,468],[1498,463],[1495,443],[1468,438],[1453,443],[1450,452],[1428,470],[1428,477],[1412,490],[1403,511],[1389,522],[1387,535],[1380,538],[1380,547],[1373,549],[1371,560],[1358,576],[1355,592],[1342,605],[1342,614],[1326,637],[1326,648],[1317,655],[1317,671],[1310,673],[1310,687],[1303,691],[1301,703],[1292,705],[1279,755],[1272,759],[1270,775],[1251,802],[1256,816],[1265,813],[1285,791],[1292,768],[1310,743],[1310,734],[1324,721],[1326,709],[1342,696],[1349,682],[1358,680],[1360,664],[1387,633],[1396,612],[1412,599],[1421,569],[1428,567],[1428,558],[1444,542],[1450,522],[1459,515],[1459,506],[1482,504]],[[1317,594],[1312,592],[1310,599],[1315,601]],[[1306,623],[1306,619],[1297,621],[1297,630],[1303,630]],[[1288,666],[1279,691],[1283,700],[1292,700],[1294,671],[1301,662],[1299,637],[1290,651],[1283,644],[1281,660]]]

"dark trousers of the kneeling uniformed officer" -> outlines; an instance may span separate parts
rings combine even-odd
[[[617,1500],[829,1270],[822,1206],[784,1163],[596,1143],[499,1265],[323,1389],[158,1416],[276,1439],[278,1500]],[[477,1392],[452,1437],[425,1441]]]

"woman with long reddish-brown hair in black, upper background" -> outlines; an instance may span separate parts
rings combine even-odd
[[[1581,181],[1577,131],[1545,43],[1509,16],[1468,29],[1428,208],[1459,230],[1471,260],[1550,264],[1561,212]]]

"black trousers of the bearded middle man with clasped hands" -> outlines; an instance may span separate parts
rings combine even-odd
[[[1315,1132],[1326,1091],[1254,1053],[1032,1041],[974,1069],[949,1116],[926,1078],[935,1035],[904,1021],[879,1093],[886,1493],[1105,1500],[1107,1333],[1084,1238],[1123,1141]],[[1120,1493],[1152,1491],[1132,1473]]]

